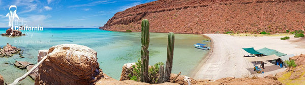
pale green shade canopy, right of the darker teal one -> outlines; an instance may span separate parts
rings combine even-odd
[[[257,52],[259,53],[262,53],[266,56],[269,56],[269,55],[277,55],[277,56],[285,56],[287,54],[284,54],[284,53],[281,53],[281,52],[278,52],[277,50],[273,50],[273,49],[268,49],[268,48],[262,48],[260,50],[256,50]]]

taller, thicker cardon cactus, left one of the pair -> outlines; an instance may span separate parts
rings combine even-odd
[[[147,19],[142,20],[141,24],[141,41],[142,41],[142,49],[141,49],[141,82],[149,82],[148,80],[148,61],[149,61],[149,22]]]

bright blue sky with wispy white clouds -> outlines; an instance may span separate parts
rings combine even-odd
[[[17,6],[18,22],[28,26],[91,27],[103,26],[116,12],[153,1],[156,0],[0,0],[0,27],[8,27],[6,15],[11,5]]]

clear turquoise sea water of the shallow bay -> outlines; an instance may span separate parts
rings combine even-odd
[[[0,28],[5,33],[7,28]],[[12,83],[22,76],[25,70],[16,68],[13,63],[27,61],[37,63],[38,50],[49,49],[59,44],[78,44],[95,50],[100,68],[107,75],[119,79],[122,66],[125,63],[137,62],[140,58],[140,32],[113,32],[98,28],[44,28],[42,31],[22,31],[26,36],[0,36],[0,46],[7,43],[24,50],[24,57],[14,55],[0,58],[0,74],[5,82]],[[188,75],[208,51],[194,48],[194,44],[202,43],[206,37],[195,34],[175,34],[175,47],[172,73],[181,72]],[[149,65],[157,62],[166,63],[167,33],[150,33]],[[5,64],[9,63],[9,64]],[[30,77],[20,81],[20,84],[34,84]]]

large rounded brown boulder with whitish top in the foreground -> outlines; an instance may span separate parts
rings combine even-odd
[[[97,52],[81,45],[63,44],[48,50],[38,67],[35,84],[94,84],[103,77]]]

